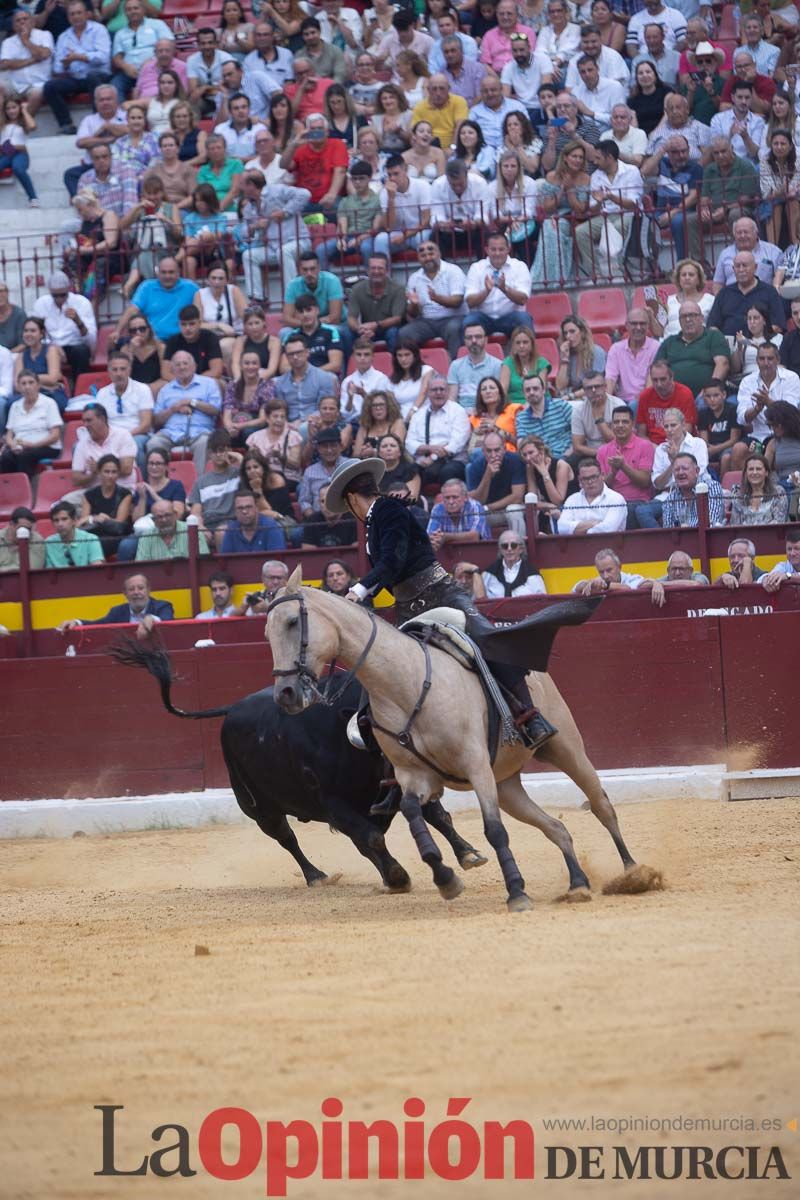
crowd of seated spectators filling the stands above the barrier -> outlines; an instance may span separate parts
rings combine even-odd
[[[700,492],[796,517],[794,6],[724,38],[692,0],[225,0],[191,47],[161,10],[44,0],[0,46],[31,204],[43,104],[76,145],[62,269],[29,312],[0,282],[0,472],[71,470],[43,565],[186,557],[188,517],[203,553],[347,547],[326,486],[373,455],[434,546],[499,536],[488,596],[541,590],[525,498],[559,535],[697,526]],[[540,293],[639,254],[672,286],[616,341],[537,338]]]

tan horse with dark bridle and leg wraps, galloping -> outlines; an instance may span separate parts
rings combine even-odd
[[[500,809],[535,826],[564,854],[570,874],[565,899],[590,899],[589,880],[578,864],[572,838],[561,821],[535,804],[522,785],[530,754],[524,745],[503,745],[494,764],[487,750],[488,714],[477,677],[444,650],[427,650],[359,605],[317,588],[303,588],[297,566],[272,601],[265,636],[275,664],[275,698],[288,713],[319,700],[317,682],[324,665],[337,659],[349,667],[369,695],[374,732],[395,767],[403,792],[401,811],[409,822],[423,862],[439,892],[455,899],[463,883],[441,860],[422,816],[422,805],[441,794],[445,784],[474,790],[487,840],[497,853],[511,912],[531,907],[515,862]],[[425,688],[428,673],[429,689]],[[625,866],[619,883],[604,890],[644,892],[661,887],[661,876],[636,866],[620,834],[616,814],[587,757],[572,714],[551,677],[531,672],[528,685],[537,708],[547,713],[558,734],[539,757],[565,772],[584,792],[591,811],[608,829]],[[409,730],[409,718],[419,707]],[[407,730],[410,737],[404,736]],[[399,734],[399,740],[398,740]]]

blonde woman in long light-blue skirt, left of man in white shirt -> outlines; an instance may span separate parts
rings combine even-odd
[[[573,281],[572,223],[587,216],[589,193],[587,151],[579,142],[567,142],[554,169],[537,182],[541,229],[530,275],[540,288]]]

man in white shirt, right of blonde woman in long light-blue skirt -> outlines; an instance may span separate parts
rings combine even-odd
[[[590,220],[577,226],[575,236],[582,272],[589,278],[615,281],[621,280],[621,257],[644,185],[638,168],[619,161],[614,140],[599,142],[596,152]]]

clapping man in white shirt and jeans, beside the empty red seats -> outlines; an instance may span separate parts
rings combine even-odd
[[[530,269],[509,256],[509,239],[492,233],[486,240],[487,257],[473,263],[467,274],[469,316],[463,324],[480,322],[487,334],[510,334],[517,325],[533,330],[525,305],[530,299]]]

